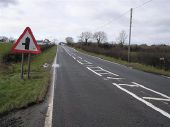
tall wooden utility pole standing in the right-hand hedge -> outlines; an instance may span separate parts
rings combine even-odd
[[[133,8],[130,9],[130,28],[129,28],[129,46],[128,46],[128,62],[130,62],[130,43],[131,43],[131,31],[132,31],[132,13]]]

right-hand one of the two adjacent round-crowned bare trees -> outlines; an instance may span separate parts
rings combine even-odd
[[[103,31],[95,32],[93,38],[97,41],[99,45],[101,42],[105,42],[107,40],[107,35]]]

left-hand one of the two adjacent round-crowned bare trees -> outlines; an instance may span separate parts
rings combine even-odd
[[[93,34],[91,32],[82,32],[79,38],[82,42],[85,42],[85,44],[87,44],[89,39],[92,38],[92,36]]]

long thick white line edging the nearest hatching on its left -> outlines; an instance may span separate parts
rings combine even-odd
[[[164,115],[164,116],[166,116],[167,118],[170,119],[170,114],[169,114],[169,113],[167,113],[167,112],[165,112],[164,110],[162,110],[162,109],[156,107],[156,106],[153,105],[152,103],[150,103],[150,102],[148,102],[148,101],[146,101],[146,100],[144,100],[144,99],[138,97],[136,94],[134,94],[134,93],[132,93],[132,92],[126,90],[125,88],[122,88],[122,87],[119,86],[118,84],[116,84],[116,83],[112,83],[112,84],[113,84],[114,86],[116,86],[117,88],[119,88],[120,90],[126,92],[127,94],[131,95],[132,97],[134,97],[134,98],[136,98],[137,100],[143,102],[145,105],[149,106],[150,108],[154,109],[155,111],[161,113],[162,115]]]

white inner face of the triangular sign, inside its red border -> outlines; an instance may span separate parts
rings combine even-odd
[[[15,47],[16,50],[30,50],[30,51],[38,51],[35,43],[29,32],[27,31],[25,35],[22,37],[18,45]]]

